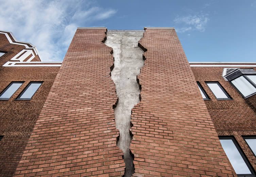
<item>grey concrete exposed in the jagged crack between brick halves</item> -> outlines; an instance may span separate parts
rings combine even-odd
[[[116,84],[119,102],[115,111],[116,127],[120,132],[118,147],[124,152],[125,176],[134,173],[133,157],[130,154],[131,144],[131,110],[139,103],[140,89],[136,76],[144,65],[143,50],[138,47],[138,41],[144,31],[107,31],[105,44],[113,48],[115,67],[111,78]]]

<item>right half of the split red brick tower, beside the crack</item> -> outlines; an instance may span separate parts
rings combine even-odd
[[[134,176],[233,176],[174,29],[147,29],[132,110]]]

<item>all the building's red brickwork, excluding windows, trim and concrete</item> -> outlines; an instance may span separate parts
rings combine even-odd
[[[0,57],[0,91],[24,81],[0,100],[0,176],[124,175],[106,32],[77,29],[61,67],[3,67],[26,47],[0,33],[0,51],[7,52]],[[131,115],[133,176],[236,176],[218,136],[234,136],[256,169],[242,137],[256,135],[256,95],[244,99],[223,79],[222,64],[191,67],[174,29],[148,28],[138,42],[145,62],[137,77],[141,101]],[[32,61],[40,64],[39,56]],[[31,100],[15,100],[31,81],[44,83]],[[217,100],[205,81],[218,81],[233,99]]]

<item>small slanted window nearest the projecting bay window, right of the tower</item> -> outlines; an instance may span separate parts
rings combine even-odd
[[[232,99],[219,82],[206,82],[217,99]]]

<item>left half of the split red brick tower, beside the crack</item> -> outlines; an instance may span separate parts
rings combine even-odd
[[[106,29],[78,29],[15,176],[121,176]]]

